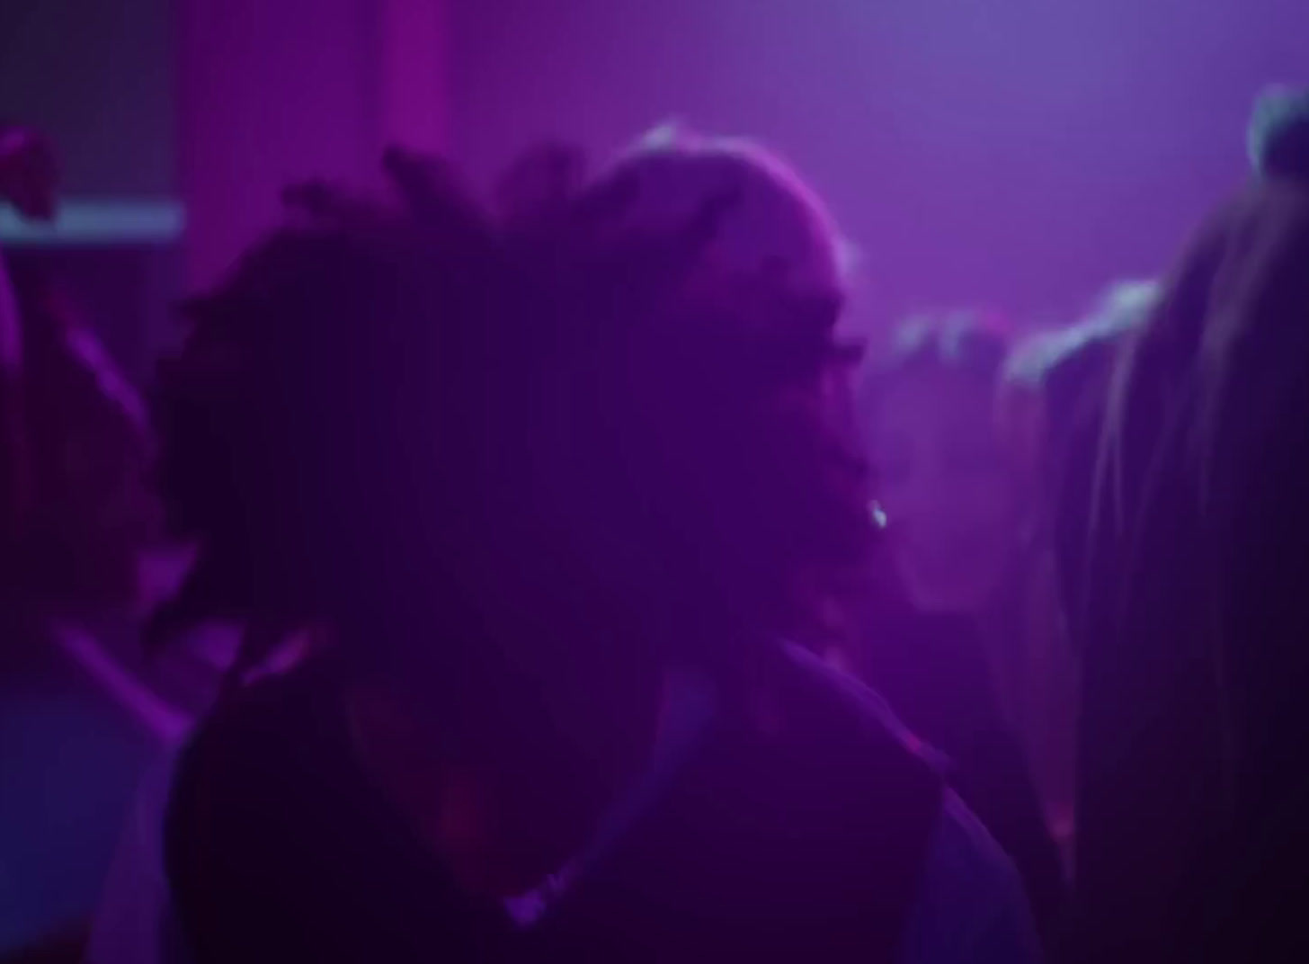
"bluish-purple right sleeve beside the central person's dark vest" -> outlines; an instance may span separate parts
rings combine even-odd
[[[953,794],[941,804],[899,960],[1041,960],[1041,942],[1017,871]]]

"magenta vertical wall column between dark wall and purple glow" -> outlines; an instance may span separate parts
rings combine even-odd
[[[186,283],[212,283],[305,177],[372,183],[445,147],[445,0],[179,0]]]

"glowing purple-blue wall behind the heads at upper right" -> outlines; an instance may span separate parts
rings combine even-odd
[[[669,117],[793,161],[864,257],[856,309],[1026,317],[1152,276],[1241,177],[1255,92],[1309,63],[1293,0],[449,0],[452,144],[598,158]],[[1067,320],[1067,314],[1060,314]]]

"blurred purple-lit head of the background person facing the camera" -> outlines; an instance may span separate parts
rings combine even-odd
[[[864,382],[890,563],[920,612],[992,616],[1018,570],[1022,492],[995,422],[1009,344],[982,316],[911,320]],[[997,690],[1016,689],[992,658]]]

